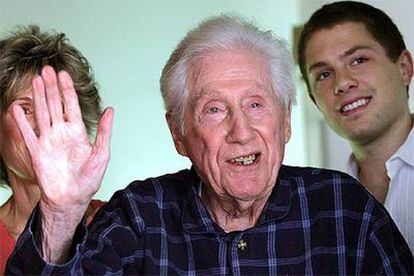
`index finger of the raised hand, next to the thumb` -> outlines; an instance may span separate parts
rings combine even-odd
[[[82,113],[79,106],[78,94],[76,94],[72,78],[68,72],[60,71],[58,79],[62,91],[66,119],[70,122],[81,122]]]

